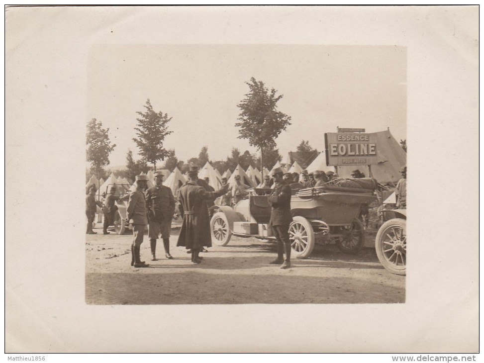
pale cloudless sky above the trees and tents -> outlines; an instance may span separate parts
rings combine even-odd
[[[283,158],[302,140],[324,150],[324,133],[339,127],[389,127],[406,139],[406,48],[320,45],[94,45],[88,58],[87,117],[109,128],[111,166],[136,158],[136,111],[149,98],[172,120],[164,146],[180,160],[208,147],[210,160],[232,148],[257,152],[239,139],[237,104],[251,77],[283,94],[278,109],[291,125],[276,140]]]

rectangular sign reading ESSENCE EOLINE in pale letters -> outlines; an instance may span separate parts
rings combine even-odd
[[[324,143],[328,166],[378,164],[377,137],[374,134],[327,132]]]

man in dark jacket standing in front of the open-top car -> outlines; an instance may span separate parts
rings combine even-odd
[[[289,225],[292,222],[290,214],[290,186],[283,181],[281,168],[275,169],[272,172],[272,176],[276,185],[268,197],[268,201],[272,205],[269,225],[272,227],[274,236],[277,239],[277,259],[270,264],[282,264],[281,269],[289,269],[291,252]],[[284,253],[286,253],[286,260],[284,260]]]

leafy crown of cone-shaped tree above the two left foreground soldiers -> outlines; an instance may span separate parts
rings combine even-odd
[[[146,112],[137,111],[140,116],[137,118],[138,127],[134,129],[137,131],[138,138],[133,138],[133,141],[139,148],[139,154],[147,163],[153,164],[153,170],[156,170],[156,162],[158,160],[165,160],[173,155],[173,150],[163,148],[165,137],[170,135],[172,131],[168,131],[168,122],[172,117],[163,112],[155,112],[150,100],[146,101]]]

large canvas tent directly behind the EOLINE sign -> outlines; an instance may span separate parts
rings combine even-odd
[[[351,178],[351,172],[355,169],[365,173],[366,177],[372,177],[380,183],[396,183],[400,179],[400,170],[407,163],[407,154],[400,144],[393,138],[390,131],[375,132],[377,138],[378,164],[368,166],[344,166],[338,167],[337,173],[341,178]]]

